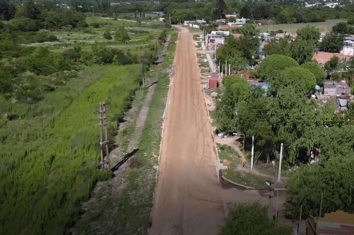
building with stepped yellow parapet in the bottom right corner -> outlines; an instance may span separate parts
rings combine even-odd
[[[307,235],[354,234],[354,214],[344,211],[325,213],[307,219]]]

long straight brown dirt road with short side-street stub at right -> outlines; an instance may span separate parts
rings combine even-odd
[[[257,191],[223,189],[192,34],[178,27],[151,235],[216,235],[230,202],[261,200]]]

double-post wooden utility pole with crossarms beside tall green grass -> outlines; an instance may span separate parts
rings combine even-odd
[[[95,111],[95,113],[99,113],[98,118],[99,119],[99,136],[100,136],[100,141],[99,141],[99,146],[101,149],[101,171],[104,171],[104,166],[106,165],[107,169],[110,169],[109,163],[109,150],[108,150],[108,132],[107,132],[107,109],[106,109],[106,103],[105,102],[100,102],[99,103],[99,111]],[[103,140],[103,130],[104,130],[104,140]],[[105,151],[104,151],[105,149]],[[105,156],[104,156],[105,152]]]

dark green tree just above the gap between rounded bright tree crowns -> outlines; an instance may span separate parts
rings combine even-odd
[[[312,40],[296,39],[291,43],[291,57],[299,64],[312,61],[315,48]]]

